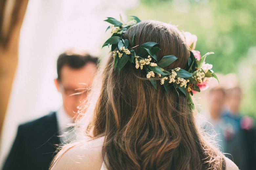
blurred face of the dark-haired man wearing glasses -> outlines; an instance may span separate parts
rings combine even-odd
[[[61,68],[60,80],[54,80],[56,88],[62,94],[64,109],[70,117],[76,115],[77,106],[87,97],[96,71],[96,64],[91,62],[80,69],[64,65]]]

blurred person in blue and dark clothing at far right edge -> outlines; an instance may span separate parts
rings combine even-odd
[[[242,89],[235,86],[226,90],[227,110],[223,114],[226,127],[233,131],[232,136],[226,136],[227,150],[233,156],[234,162],[241,170],[256,169],[256,132],[254,121],[249,116],[242,116],[240,104]],[[228,157],[228,156],[227,156]]]

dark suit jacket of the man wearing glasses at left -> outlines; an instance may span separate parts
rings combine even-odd
[[[56,151],[56,113],[20,125],[3,170],[48,170]]]

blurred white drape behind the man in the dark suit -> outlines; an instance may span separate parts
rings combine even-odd
[[[75,47],[105,55],[109,37],[106,17],[125,20],[125,10],[137,0],[29,0],[21,29],[19,62],[0,141],[0,167],[20,123],[57,110],[62,102],[55,89],[56,60]]]

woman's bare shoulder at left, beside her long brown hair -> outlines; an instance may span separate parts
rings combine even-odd
[[[64,147],[51,170],[100,170],[103,163],[101,148],[104,138],[86,143],[75,143]]]

